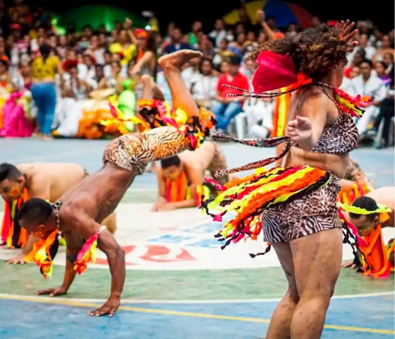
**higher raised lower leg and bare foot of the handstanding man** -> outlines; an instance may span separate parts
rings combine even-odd
[[[190,59],[201,57],[201,52],[182,49],[160,57],[158,63],[165,74],[174,108],[181,108],[188,116],[199,116],[199,108],[181,78],[181,68]]]

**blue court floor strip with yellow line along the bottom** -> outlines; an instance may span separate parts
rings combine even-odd
[[[264,338],[277,301],[240,303],[123,303],[113,316],[87,312],[100,303],[0,296],[0,338],[225,339]],[[331,301],[323,339],[395,336],[393,296]]]

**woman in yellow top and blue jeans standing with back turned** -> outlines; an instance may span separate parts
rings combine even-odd
[[[40,53],[41,56],[32,63],[32,97],[38,108],[39,133],[43,135],[43,138],[51,138],[51,127],[56,106],[55,75],[59,73],[60,89],[63,90],[63,69],[60,59],[53,54],[49,45],[41,45]]]

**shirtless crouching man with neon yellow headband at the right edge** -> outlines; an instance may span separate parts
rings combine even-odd
[[[362,237],[371,231],[374,231],[378,224],[380,224],[382,228],[395,227],[395,187],[388,186],[375,189],[363,197],[355,199],[352,203],[353,206],[361,207],[366,210],[375,210],[377,208],[377,204],[382,204],[391,208],[392,212],[388,212],[388,220],[380,222],[380,216],[377,213],[368,215],[354,214],[350,212],[344,213],[344,216],[348,221],[354,224],[359,235]],[[395,266],[395,252],[391,254],[390,261],[392,265]],[[342,267],[355,268],[356,265],[354,264],[354,261],[347,261],[342,264]]]

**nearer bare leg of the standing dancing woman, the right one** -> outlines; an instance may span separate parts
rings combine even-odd
[[[290,242],[299,295],[291,322],[292,339],[319,339],[342,262],[342,229]]]

